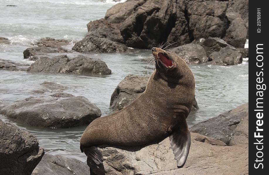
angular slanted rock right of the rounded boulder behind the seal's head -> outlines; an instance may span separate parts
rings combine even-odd
[[[200,38],[198,40],[195,40],[193,43],[201,45],[205,49],[205,53],[207,57],[212,52],[218,52],[220,49],[225,48],[227,46],[230,46],[226,43],[223,39],[220,38]],[[232,47],[232,46],[230,46]]]

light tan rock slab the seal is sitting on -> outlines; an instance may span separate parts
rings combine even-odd
[[[106,175],[248,174],[248,144],[225,146],[218,141],[191,133],[188,158],[177,167],[170,139],[144,148],[100,146]]]

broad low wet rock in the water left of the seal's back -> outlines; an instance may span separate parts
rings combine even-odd
[[[28,125],[52,128],[88,125],[101,116],[100,109],[85,97],[66,94],[29,97],[1,106],[0,113]]]

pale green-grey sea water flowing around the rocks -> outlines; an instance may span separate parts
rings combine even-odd
[[[66,48],[71,49],[74,42],[84,38],[87,33],[86,24],[103,18],[106,10],[114,4],[112,0],[1,0],[0,36],[8,38],[11,45],[0,45],[0,59],[33,63],[23,59],[23,51],[43,37],[67,39],[71,45]],[[245,47],[248,47],[248,41]],[[111,113],[111,94],[126,75],[149,75],[153,72],[153,65],[150,64],[147,68],[148,63],[145,61],[150,54],[150,50],[138,49],[125,54],[67,54],[70,57],[85,55],[105,61],[112,70],[112,74],[106,76],[30,74],[1,70],[0,104],[39,96],[33,90],[41,89],[40,83],[51,81],[67,86],[68,89],[64,92],[88,98],[101,109],[102,116],[108,115]],[[188,116],[189,126],[248,102],[247,60],[244,58],[242,64],[235,66],[190,65],[195,76],[195,98],[200,109]],[[46,92],[42,95],[50,94]],[[79,139],[86,126],[52,129],[27,126],[3,115],[0,115],[0,119],[12,122],[37,136],[40,146],[47,153],[86,161],[86,156],[79,150]]]

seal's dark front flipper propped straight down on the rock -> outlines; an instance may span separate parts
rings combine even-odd
[[[190,130],[185,118],[183,120],[180,125],[173,129],[173,133],[170,135],[171,148],[178,167],[183,167],[190,150]]]

